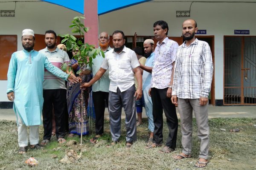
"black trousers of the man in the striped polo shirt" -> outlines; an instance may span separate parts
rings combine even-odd
[[[52,107],[54,109],[56,123],[56,137],[64,138],[67,114],[67,90],[66,89],[50,89],[43,90],[43,124],[44,124],[44,140],[51,139],[52,136]]]

